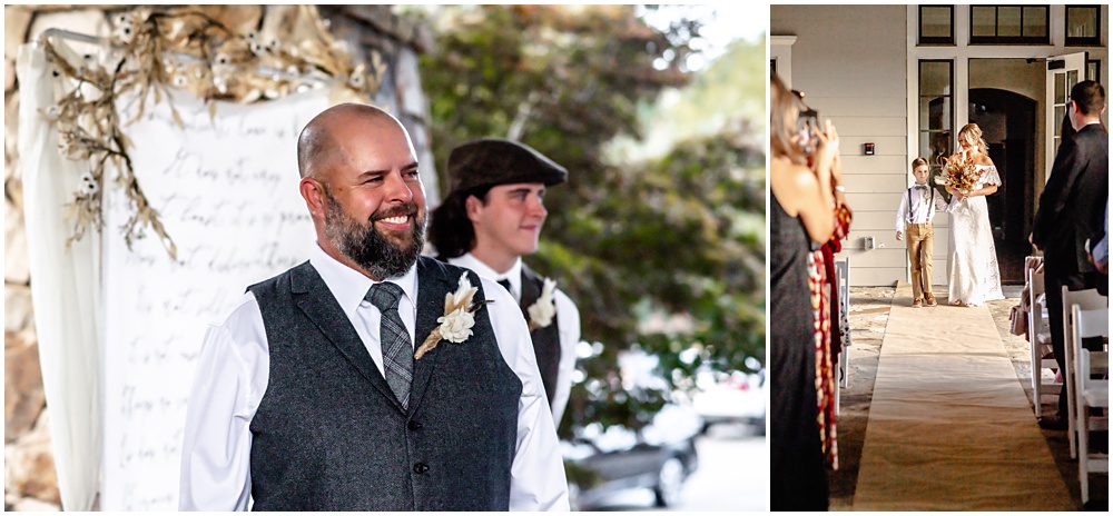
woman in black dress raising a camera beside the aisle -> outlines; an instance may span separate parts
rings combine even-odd
[[[770,500],[774,510],[826,510],[807,256],[835,228],[838,136],[829,120],[825,131],[798,125],[807,107],[776,75],[769,97]]]

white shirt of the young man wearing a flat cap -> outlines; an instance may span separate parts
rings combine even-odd
[[[482,278],[494,281],[509,280],[510,294],[521,306],[522,302],[522,258],[514,260],[514,265],[505,272],[496,272],[486,264],[480,261],[471,252],[457,258],[449,258],[449,264],[456,267],[472,269]],[[505,289],[503,289],[505,290]],[[553,393],[553,421],[560,426],[561,417],[564,415],[564,407],[568,406],[568,396],[572,390],[572,370],[575,369],[575,346],[580,343],[580,310],[575,308],[564,292],[558,288],[553,294],[556,302],[556,329],[560,334],[560,364],[556,366],[556,391]]]

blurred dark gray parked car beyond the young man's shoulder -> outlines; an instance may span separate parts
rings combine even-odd
[[[667,388],[656,370],[658,359],[640,350],[620,356],[627,389]],[[634,431],[592,423],[561,441],[574,510],[604,507],[608,498],[630,489],[651,489],[656,505],[676,505],[683,483],[698,466],[696,437],[703,420],[687,406],[667,403],[649,425]]]

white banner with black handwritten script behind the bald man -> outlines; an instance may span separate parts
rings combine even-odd
[[[121,99],[124,118],[135,102]],[[150,235],[129,250],[111,228],[130,212],[107,191],[105,260],[106,510],[175,510],[186,401],[205,329],[244,289],[308,257],[313,222],[298,194],[297,136],[328,106],[316,90],[215,119],[186,93],[125,128],[136,176],[178,261]]]

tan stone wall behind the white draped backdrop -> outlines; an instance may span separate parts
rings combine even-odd
[[[225,27],[247,32],[264,27],[282,30],[290,6],[199,7]],[[31,309],[30,272],[23,226],[22,178],[19,160],[19,86],[16,57],[19,46],[43,30],[61,28],[107,36],[108,20],[119,6],[4,7],[4,510],[57,510],[58,480],[50,435],[38,339]],[[391,6],[321,8],[334,34],[357,49],[357,60],[370,62],[377,52],[386,63],[382,86],[373,99],[398,117],[410,130],[431,204],[439,198],[427,128],[429,103],[421,88],[417,56],[432,42],[432,32],[392,13]]]

